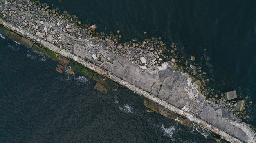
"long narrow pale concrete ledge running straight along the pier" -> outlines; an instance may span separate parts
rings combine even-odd
[[[155,97],[154,95],[152,95],[151,93],[148,93],[147,91],[144,91],[142,89],[140,89],[139,87],[136,87],[135,85],[132,85],[120,78],[117,78],[115,75],[107,72],[106,70],[104,69],[101,69],[100,67],[88,62],[88,61],[85,61],[83,58],[80,58],[74,54],[71,54],[65,50],[61,50],[61,48],[58,48],[54,45],[52,45],[51,43],[47,42],[47,41],[44,41],[30,33],[27,33],[19,28],[16,28],[15,26],[13,26],[12,24],[10,24],[9,22],[6,22],[5,20],[3,20],[2,18],[0,18],[0,24],[6,26],[7,28],[11,29],[12,31],[14,32],[17,32],[18,34],[24,36],[24,37],[27,37],[31,40],[34,40],[35,42],[43,45],[45,48],[49,49],[49,50],[52,50],[66,58],[70,58],[78,63],[80,63],[81,65],[85,66],[85,67],[88,67],[89,69],[105,76],[106,78],[109,78],[110,80],[113,80],[117,83],[119,83],[120,85],[123,85],[125,87],[127,87],[128,89],[140,94],[140,95],[143,95],[144,97],[148,98],[149,100],[152,100],[153,102],[156,102],[157,104],[163,106],[164,108],[176,113],[176,114],[179,114],[183,117],[186,117],[187,119],[189,119],[190,121],[202,126],[203,128],[206,128],[207,130],[211,130],[212,132],[216,133],[216,134],[219,134],[223,139],[225,139],[226,141],[229,141],[231,143],[243,143],[242,141],[240,141],[239,139],[237,138],[234,138],[232,137],[231,135],[227,134],[226,132],[216,128],[215,126],[207,123],[206,121],[190,114],[190,113],[187,113],[185,111],[182,111],[181,109],[175,107],[175,106],[172,106],[171,104],[168,104],[167,102],[165,102],[164,100],[161,100],[157,97]],[[253,141],[253,140],[252,140]]]

